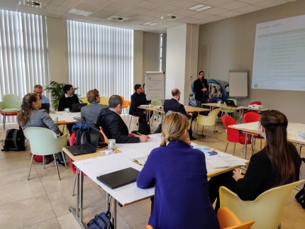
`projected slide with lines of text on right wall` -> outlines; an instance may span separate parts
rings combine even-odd
[[[305,16],[257,24],[251,88],[305,91]]]

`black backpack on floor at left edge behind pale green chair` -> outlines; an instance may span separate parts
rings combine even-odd
[[[26,150],[26,137],[21,128],[6,130],[2,151],[24,151]]]

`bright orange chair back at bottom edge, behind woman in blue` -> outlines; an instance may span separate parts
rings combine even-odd
[[[250,229],[255,223],[255,220],[249,220],[245,223],[241,223],[240,219],[229,208],[221,207],[217,212],[217,218],[219,225],[222,228],[238,228],[238,229]]]

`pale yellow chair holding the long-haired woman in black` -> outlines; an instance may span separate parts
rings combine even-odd
[[[254,201],[242,201],[233,191],[221,186],[220,206],[230,208],[241,221],[255,220],[253,228],[280,228],[282,211],[290,192],[304,181],[269,189],[257,196]]]

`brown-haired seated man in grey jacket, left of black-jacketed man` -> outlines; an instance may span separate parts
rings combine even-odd
[[[99,113],[101,113],[101,109],[107,108],[108,106],[99,104],[99,91],[96,89],[87,92],[87,100],[90,104],[83,106],[80,109],[82,122],[92,121],[96,123],[97,117],[99,116]]]

